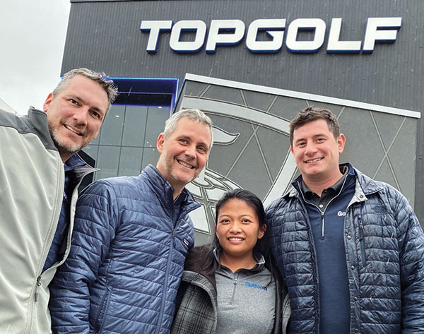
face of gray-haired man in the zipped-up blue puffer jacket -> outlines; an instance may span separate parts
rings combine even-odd
[[[160,133],[157,146],[159,172],[170,182],[175,193],[180,193],[206,165],[211,129],[204,123],[182,117],[168,138]]]

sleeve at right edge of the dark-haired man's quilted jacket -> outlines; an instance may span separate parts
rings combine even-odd
[[[402,333],[421,333],[424,328],[424,233],[406,198],[398,195],[394,214],[399,224]]]

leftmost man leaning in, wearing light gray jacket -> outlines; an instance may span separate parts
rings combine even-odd
[[[43,111],[0,111],[0,333],[50,333],[49,282],[71,243],[76,153],[98,135],[117,88],[103,73],[64,75]]]

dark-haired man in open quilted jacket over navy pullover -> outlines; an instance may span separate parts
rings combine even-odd
[[[424,333],[424,234],[404,196],[350,164],[334,114],[290,122],[301,176],[267,211],[288,333]]]

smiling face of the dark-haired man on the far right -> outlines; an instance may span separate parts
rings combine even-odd
[[[302,177],[326,181],[338,173],[338,156],[343,152],[345,136],[334,138],[324,119],[311,121],[293,132],[290,147]]]

